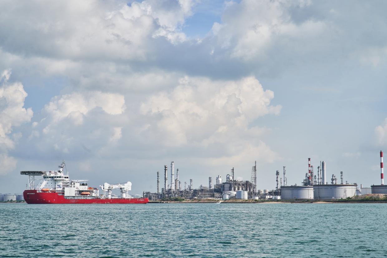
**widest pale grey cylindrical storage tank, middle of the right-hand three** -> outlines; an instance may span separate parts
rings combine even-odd
[[[315,185],[315,200],[345,199],[356,195],[356,185]]]

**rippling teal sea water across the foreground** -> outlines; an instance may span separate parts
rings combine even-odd
[[[384,257],[387,204],[0,204],[0,257]]]

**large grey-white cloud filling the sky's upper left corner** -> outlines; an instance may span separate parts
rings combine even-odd
[[[5,1],[0,4],[0,44],[10,53],[66,60],[144,60],[152,52],[152,39],[184,41],[181,26],[194,4],[177,0],[129,5],[125,1]],[[15,15],[23,19],[15,22]]]

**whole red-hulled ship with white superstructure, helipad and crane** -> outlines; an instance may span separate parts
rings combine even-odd
[[[109,184],[104,183],[99,190],[89,187],[88,180],[69,180],[68,173],[63,173],[65,162],[55,171],[20,171],[20,174],[29,176],[29,189],[23,192],[24,200],[29,204],[130,204],[148,203],[148,198],[133,198],[128,194],[132,190],[132,183]],[[35,176],[42,176],[40,183]],[[121,196],[114,195],[112,190],[120,190]]]

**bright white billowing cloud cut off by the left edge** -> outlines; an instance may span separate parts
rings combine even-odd
[[[16,159],[8,155],[15,148],[14,140],[21,133],[11,135],[13,128],[31,121],[33,111],[24,108],[27,93],[20,82],[10,83],[11,70],[3,71],[0,77],[0,174],[5,174],[16,166]]]

